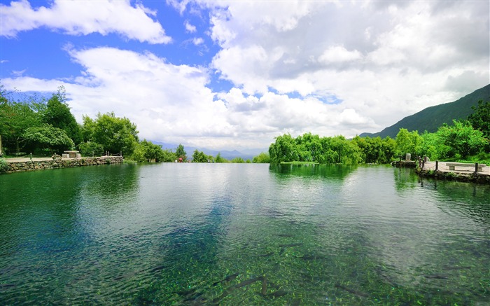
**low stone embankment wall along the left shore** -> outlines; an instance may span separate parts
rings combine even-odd
[[[122,156],[102,156],[98,158],[57,158],[55,160],[27,160],[9,162],[6,173],[33,171],[41,169],[83,167],[92,165],[109,165],[123,162]]]

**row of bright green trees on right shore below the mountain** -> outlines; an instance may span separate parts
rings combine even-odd
[[[395,139],[386,137],[319,137],[306,133],[298,137],[283,134],[269,146],[270,162],[318,162],[320,164],[388,163],[395,158],[426,155],[432,160],[489,158],[490,102],[479,101],[467,120],[444,124],[437,132],[409,132],[400,129]]]

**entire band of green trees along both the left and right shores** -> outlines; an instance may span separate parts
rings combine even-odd
[[[14,98],[16,97],[16,99]],[[63,87],[47,99],[39,95],[8,92],[0,88],[0,143],[3,155],[48,156],[76,149],[83,156],[122,153],[137,162],[316,162],[321,164],[388,163],[411,153],[427,155],[431,160],[490,159],[490,102],[480,100],[465,120],[444,124],[437,132],[408,131],[400,128],[391,137],[343,136],[319,137],[305,133],[293,138],[283,134],[275,138],[268,153],[253,160],[226,160],[218,153],[206,155],[195,150],[188,156],[180,144],[176,150],[165,150],[146,139],[139,139],[137,126],[115,113],[98,113],[95,118],[83,116],[76,122],[70,111]]]

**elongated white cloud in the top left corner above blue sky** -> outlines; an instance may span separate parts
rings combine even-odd
[[[70,35],[118,33],[127,39],[148,43],[169,43],[159,22],[149,15],[154,11],[130,1],[59,1],[48,7],[32,8],[27,0],[0,4],[1,36],[15,37],[18,32],[48,27]]]

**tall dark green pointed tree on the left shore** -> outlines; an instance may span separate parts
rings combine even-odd
[[[57,93],[52,95],[46,106],[47,108],[43,113],[44,123],[64,130],[76,144],[83,141],[80,126],[76,123],[75,117],[66,104],[66,90],[63,86],[60,86]]]

